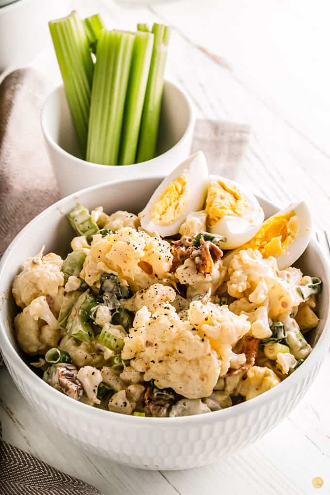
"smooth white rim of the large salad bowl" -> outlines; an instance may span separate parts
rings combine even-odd
[[[139,179],[108,181],[104,184],[98,184],[96,186],[91,186],[89,188],[82,189],[76,193],[66,196],[65,198],[61,198],[52,205],[48,206],[48,208],[46,208],[44,211],[39,213],[16,235],[16,237],[12,240],[10,245],[5,250],[2,259],[0,260],[0,284],[2,279],[2,273],[4,272],[7,263],[10,261],[10,253],[12,248],[16,244],[19,244],[21,238],[31,228],[33,228],[36,223],[38,223],[40,220],[43,220],[44,217],[47,217],[47,215],[51,213],[52,210],[55,209],[58,211],[62,211],[61,208],[62,204],[66,202],[70,202],[72,200],[77,201],[79,199],[79,196],[83,194],[97,192],[99,189],[106,189],[109,186],[114,186],[114,185],[119,186],[121,184],[125,184],[126,182],[139,183],[145,180],[163,179],[163,178],[164,178],[163,175],[151,175],[148,177],[141,177]],[[258,200],[262,199],[262,201],[264,201],[269,206],[273,208],[274,207],[278,208],[278,210],[280,210],[280,207],[278,207],[276,204],[272,203],[271,201],[261,196],[257,196],[257,199]],[[316,250],[317,255],[321,261],[321,264],[325,268],[327,280],[323,282],[328,287],[330,287],[330,262],[328,256],[325,254],[323,247],[321,247],[321,245],[316,241],[316,239],[312,238],[309,244],[313,247],[313,249]],[[10,290],[11,290],[11,286],[9,288],[8,287],[4,288],[3,294],[7,294],[8,291]],[[2,308],[0,307],[0,313],[1,313],[1,309]],[[36,375],[36,373],[34,373],[32,369],[29,368],[29,366],[20,357],[16,349],[12,346],[11,342],[9,341],[9,338],[7,336],[7,331],[4,328],[3,320],[0,319],[0,350],[1,348],[2,349],[5,348],[6,350],[6,355],[4,356],[5,359],[7,356],[10,357],[10,366],[14,366],[19,369],[20,374],[24,376],[24,379],[27,382],[29,382],[29,386],[33,390],[35,391],[40,390],[38,394],[43,393],[44,399],[47,396],[46,401],[48,403],[48,406],[50,405],[51,402],[56,402],[59,407],[68,410],[68,412],[73,413],[75,411],[77,414],[80,414],[81,416],[86,416],[86,418],[87,417],[91,418],[91,415],[93,415],[94,418],[95,419],[97,418],[99,421],[111,420],[115,422],[124,422],[127,425],[132,425],[132,424],[134,425],[137,424],[138,421],[140,421],[141,425],[143,424],[147,427],[152,427],[155,425],[163,426],[165,424],[168,426],[172,425],[173,427],[174,425],[178,425],[179,423],[196,423],[196,422],[204,422],[204,421],[213,423],[218,421],[226,421],[233,416],[248,414],[249,411],[251,411],[252,409],[261,407],[266,402],[269,402],[272,399],[273,400],[276,399],[276,397],[279,398],[280,396],[283,396],[285,391],[287,392],[288,389],[293,388],[294,385],[298,386],[299,382],[302,382],[303,376],[307,375],[308,370],[311,371],[317,363],[321,363],[321,361],[323,360],[322,358],[325,355],[329,346],[330,346],[330,311],[328,306],[326,308],[323,331],[315,347],[313,347],[311,354],[302,363],[302,365],[294,373],[289,375],[283,382],[281,382],[279,386],[272,388],[271,390],[267,391],[267,393],[265,394],[261,394],[257,397],[254,397],[252,400],[246,400],[244,402],[236,404],[235,406],[231,406],[226,409],[221,409],[219,411],[211,411],[209,413],[196,414],[193,416],[178,416],[171,418],[170,417],[165,417],[165,418],[139,417],[139,416],[107,411],[105,409],[99,409],[97,407],[91,407],[90,405],[85,404],[83,402],[73,400],[72,398],[66,396],[65,394],[62,394],[61,392],[57,391],[53,387],[50,387],[38,375]]]

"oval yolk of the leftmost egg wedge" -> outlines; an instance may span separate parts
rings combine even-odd
[[[188,204],[188,184],[182,175],[172,181],[150,208],[149,218],[157,225],[170,225],[184,213]]]

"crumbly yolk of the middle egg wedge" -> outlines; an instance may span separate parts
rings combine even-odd
[[[243,216],[250,208],[247,198],[234,185],[210,182],[205,206],[208,225],[215,225],[224,215]]]

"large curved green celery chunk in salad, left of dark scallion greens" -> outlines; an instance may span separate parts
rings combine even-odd
[[[94,338],[92,325],[89,323],[91,311],[97,305],[89,291],[84,292],[74,303],[67,321],[69,335],[81,342],[91,342]]]

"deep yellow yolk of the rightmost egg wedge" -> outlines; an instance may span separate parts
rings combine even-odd
[[[275,215],[263,223],[256,235],[241,249],[258,249],[264,257],[278,256],[292,244],[299,230],[294,211]]]

